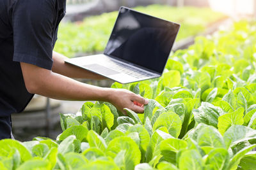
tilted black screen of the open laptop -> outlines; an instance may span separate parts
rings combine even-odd
[[[179,24],[121,7],[104,54],[163,73]]]

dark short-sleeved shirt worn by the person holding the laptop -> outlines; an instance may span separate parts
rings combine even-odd
[[[0,117],[19,113],[33,94],[20,62],[52,68],[52,49],[66,0],[0,0]]]

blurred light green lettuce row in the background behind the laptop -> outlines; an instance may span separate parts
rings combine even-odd
[[[207,25],[225,17],[223,14],[211,11],[208,8],[176,8],[155,4],[134,9],[182,24],[177,37],[178,41],[204,32]],[[117,11],[115,11],[95,17],[87,17],[82,22],[61,23],[54,50],[67,57],[102,52],[108,42],[117,14]]]

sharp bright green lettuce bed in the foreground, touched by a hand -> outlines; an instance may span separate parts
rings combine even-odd
[[[163,76],[121,85],[143,114],[86,102],[56,140],[0,141],[0,169],[256,169],[256,23],[173,53]]]

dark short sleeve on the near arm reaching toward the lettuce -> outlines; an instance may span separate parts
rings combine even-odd
[[[52,68],[55,1],[18,0],[13,6],[13,61]]]

